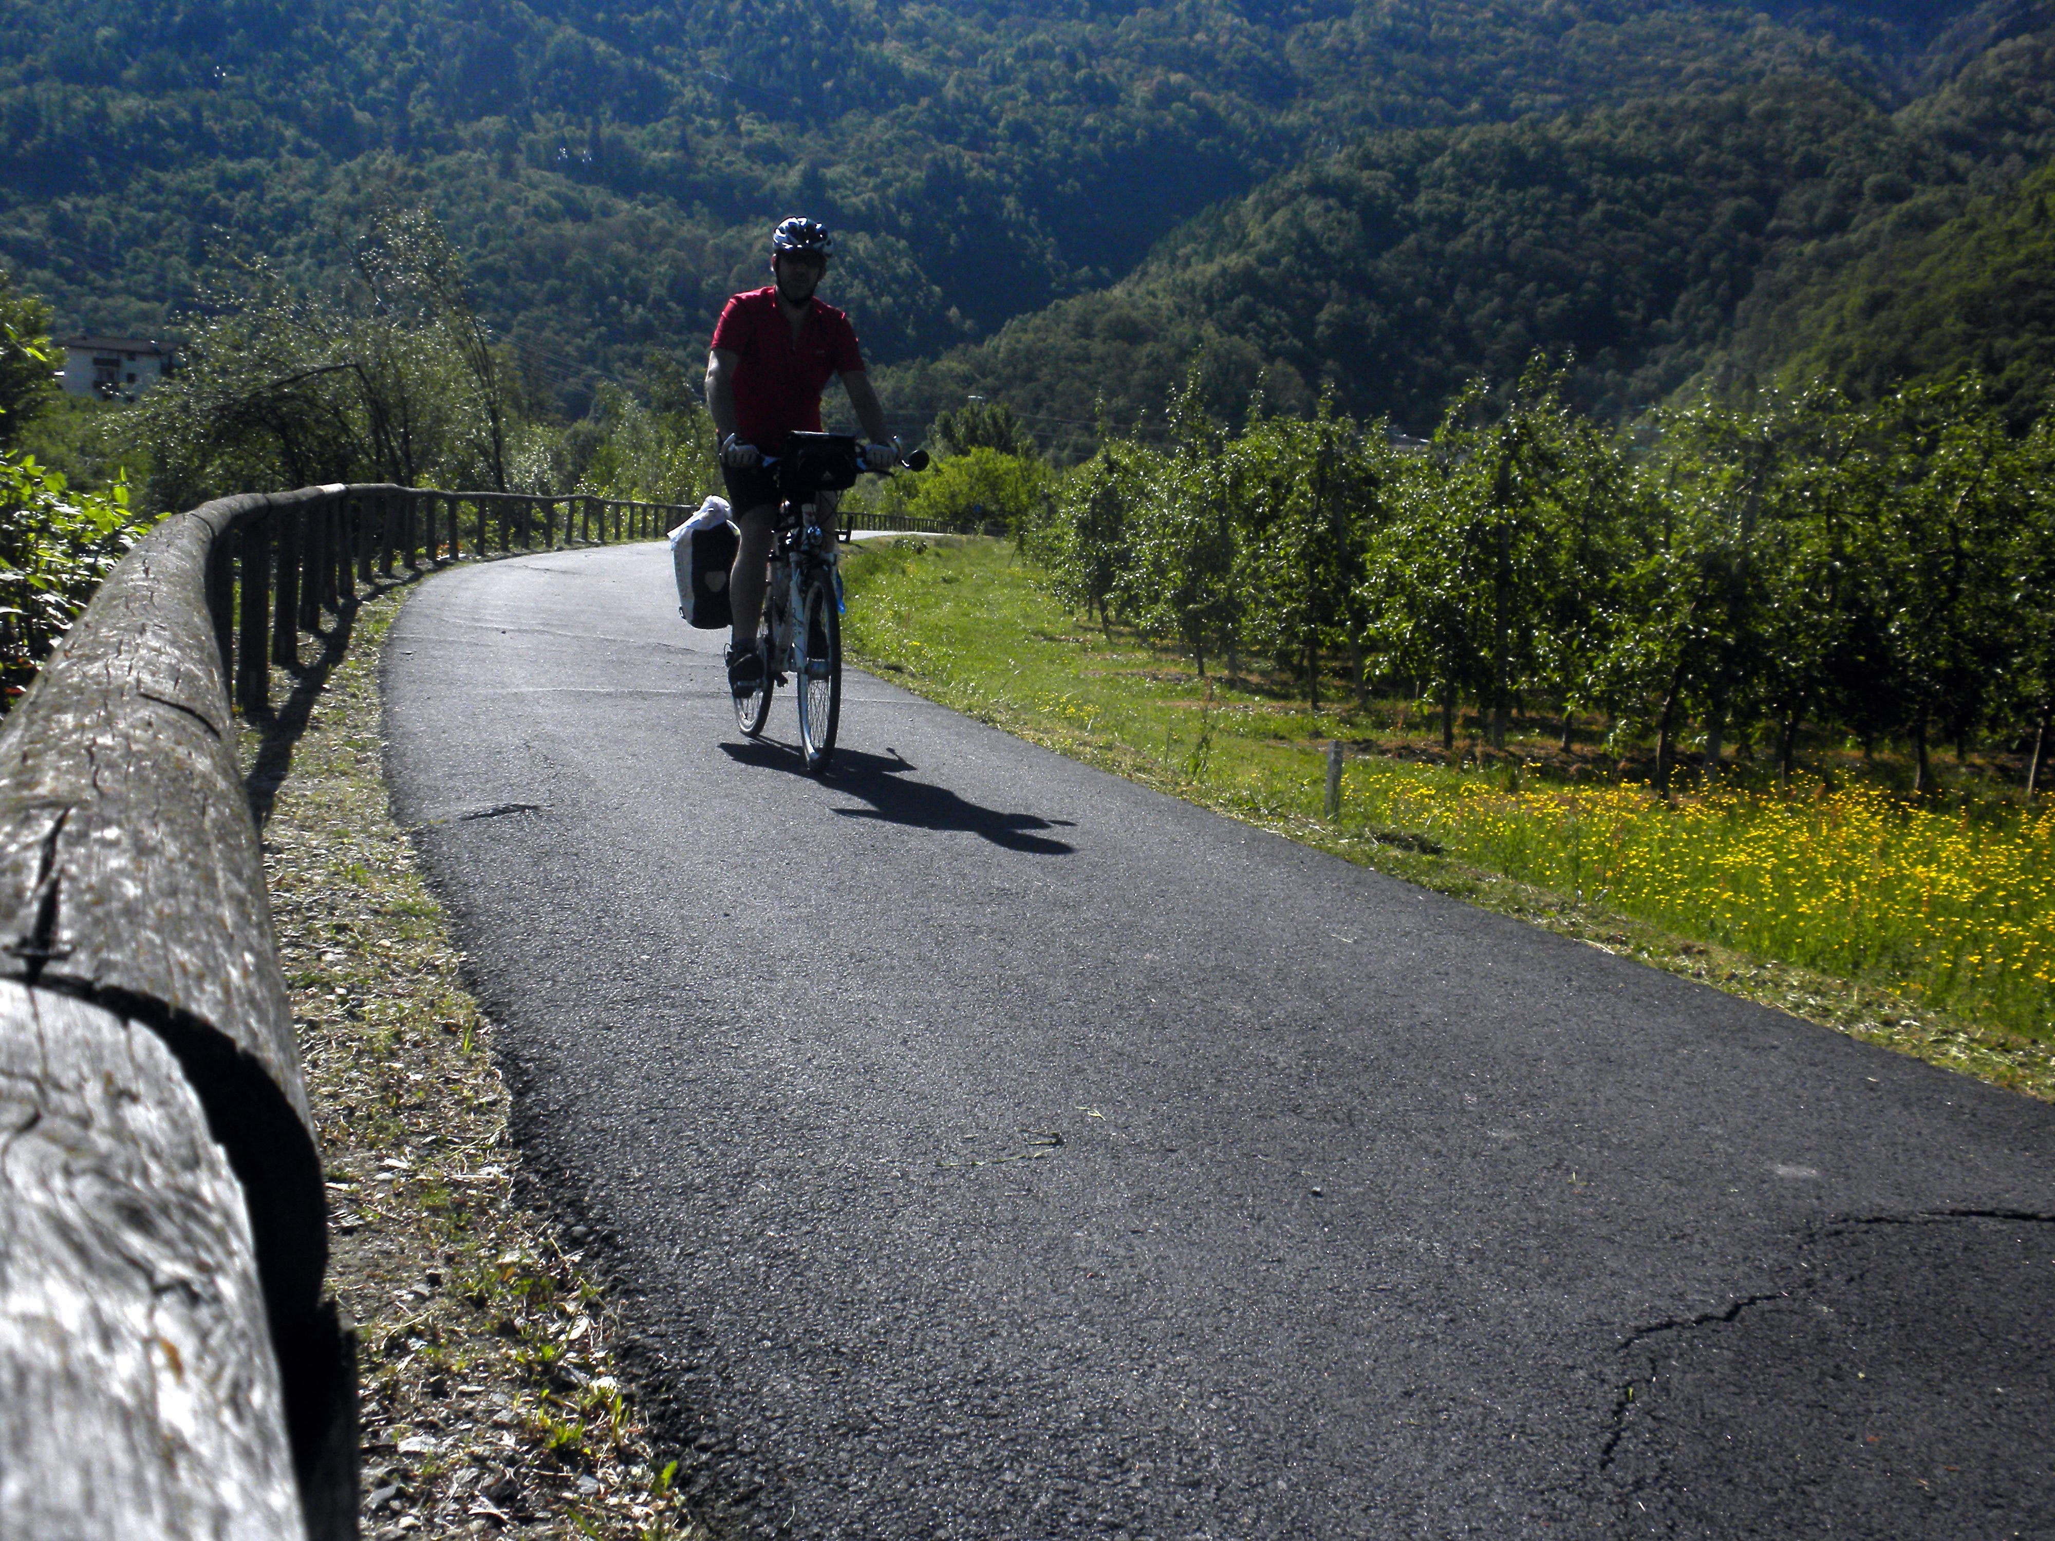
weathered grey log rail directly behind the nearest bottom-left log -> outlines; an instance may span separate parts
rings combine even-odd
[[[298,608],[284,594],[265,604],[263,516],[327,497],[236,497],[160,524],[0,731],[0,978],[144,1023],[197,1095],[240,1183],[292,1461],[323,1537],[353,1535],[353,1518],[333,1529],[356,1512],[339,1496],[356,1481],[337,1434],[353,1416],[347,1342],[321,1305],[321,1163],[206,573],[240,522],[238,662],[261,690],[267,621],[292,625]]]

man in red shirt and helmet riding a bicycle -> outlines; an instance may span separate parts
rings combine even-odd
[[[820,431],[820,392],[830,376],[840,376],[849,405],[871,440],[865,448],[869,466],[884,471],[898,460],[849,316],[814,296],[832,255],[834,236],[824,224],[797,216],[783,220],[771,234],[775,281],[732,296],[713,327],[707,411],[721,446],[721,481],[742,530],[742,549],[727,577],[734,612],[727,686],[736,694],[754,690],[769,666],[756,651],[756,621],[764,604],[779,493],[764,456],[781,454],[791,434]]]

